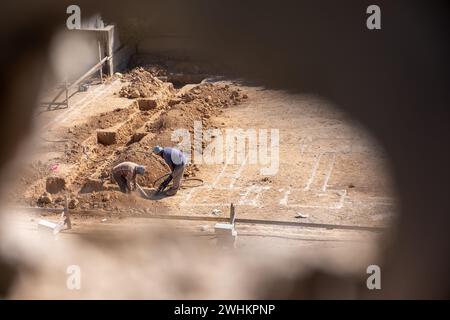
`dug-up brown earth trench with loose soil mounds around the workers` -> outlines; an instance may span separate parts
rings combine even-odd
[[[228,84],[203,82],[175,89],[144,68],[123,75],[122,81],[124,86],[115,94],[128,98],[129,104],[67,128],[57,141],[45,141],[45,148],[63,149],[63,156],[56,167],[55,159],[31,163],[11,192],[14,203],[63,208],[67,197],[69,208],[75,211],[154,213],[161,204],[152,201],[150,205],[139,193],[122,194],[111,180],[111,169],[123,161],[142,164],[147,170],[137,181],[152,188],[153,182],[169,171],[162,159],[152,154],[154,145],[173,145],[173,130],[193,132],[194,121],[202,121],[204,128],[218,128],[215,116],[247,99],[240,88]],[[184,175],[201,172],[188,164]],[[17,194],[22,196],[17,198]]]

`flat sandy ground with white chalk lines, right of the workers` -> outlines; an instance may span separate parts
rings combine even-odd
[[[278,129],[278,172],[264,176],[266,166],[245,162],[200,166],[206,184],[181,194],[180,208],[226,212],[233,202],[242,217],[295,221],[302,213],[309,222],[386,225],[394,191],[382,151],[362,128],[314,96],[243,90],[248,102],[219,119],[231,128]]]

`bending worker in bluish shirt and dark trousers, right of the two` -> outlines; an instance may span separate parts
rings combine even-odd
[[[164,190],[164,188],[170,183],[173,179],[172,187],[166,191],[166,195],[174,196],[181,187],[181,179],[183,178],[184,167],[186,166],[186,155],[176,148],[163,148],[160,146],[156,146],[153,148],[153,152],[161,158],[164,159],[164,162],[170,167],[172,173],[170,176],[161,183],[161,186],[158,189],[158,192]]]

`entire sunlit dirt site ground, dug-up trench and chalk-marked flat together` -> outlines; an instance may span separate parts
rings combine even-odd
[[[76,199],[74,219],[77,211],[98,210],[109,221],[152,214],[227,217],[230,203],[236,205],[238,218],[386,226],[394,216],[394,191],[382,151],[363,128],[331,103],[313,95],[205,80],[181,89],[158,83],[160,87],[150,94],[158,96],[158,105],[142,111],[136,99],[120,97],[121,88],[128,83],[115,76],[75,94],[68,109],[41,109],[30,143],[34,150],[28,148],[32,158],[23,163],[30,169],[22,170],[25,175],[18,182],[23,197],[12,196],[14,202],[61,208],[63,196],[68,195]],[[236,100],[230,99],[235,93]],[[186,102],[177,100],[185,94],[192,94],[194,101],[191,97]],[[215,98],[220,100],[221,94],[223,101],[229,101],[217,104]],[[208,99],[211,101],[205,102]],[[183,101],[183,106],[172,105],[173,101]],[[197,111],[197,104],[206,109]],[[108,181],[112,166],[121,160],[144,162],[149,172],[138,181],[153,194],[152,182],[168,169],[151,154],[152,146],[175,145],[171,132],[179,128],[192,132],[194,120],[202,121],[203,129],[217,128],[223,133],[227,128],[254,129],[257,133],[266,129],[268,135],[278,130],[276,174],[262,175],[261,168],[269,164],[250,164],[248,159],[194,165],[187,175],[203,179],[201,187],[150,200],[139,193],[124,195]],[[127,121],[132,123],[121,133],[121,141],[111,145],[97,142],[98,129]],[[144,132],[143,138],[133,142],[139,131]],[[46,192],[46,179],[53,176],[62,177],[65,187],[50,195],[51,203],[41,205],[39,197]],[[107,182],[98,186],[99,179]],[[214,209],[220,211],[213,215]],[[76,226],[97,222],[93,217]]]

